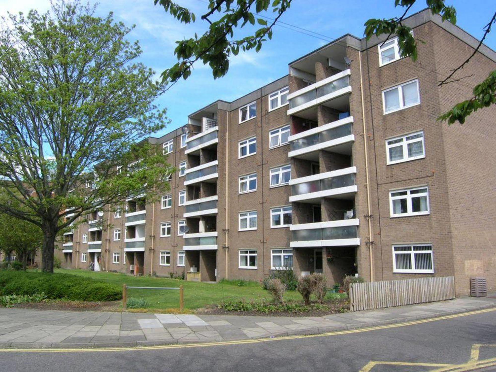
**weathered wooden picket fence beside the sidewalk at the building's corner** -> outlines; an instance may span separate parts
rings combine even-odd
[[[455,298],[453,276],[352,283],[350,310],[372,310],[451,300]]]

